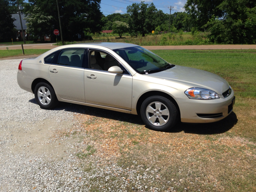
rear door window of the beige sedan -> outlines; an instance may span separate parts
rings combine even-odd
[[[84,49],[64,49],[58,56],[58,65],[82,68]]]

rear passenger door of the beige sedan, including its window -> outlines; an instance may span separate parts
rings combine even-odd
[[[85,102],[83,48],[63,49],[56,64],[51,64],[49,74],[57,94],[67,100]]]

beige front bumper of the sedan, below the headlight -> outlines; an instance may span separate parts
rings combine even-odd
[[[187,123],[210,123],[222,120],[232,112],[234,100],[234,91],[227,98],[213,100],[176,98],[181,122]]]

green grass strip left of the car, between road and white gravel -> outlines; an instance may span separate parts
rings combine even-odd
[[[24,53],[25,55],[39,55],[39,54],[45,53],[48,50],[50,49],[25,49]],[[0,50],[0,58],[22,56],[22,55],[23,53],[21,49]]]

